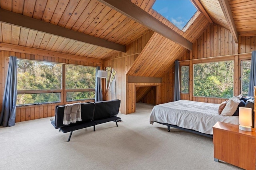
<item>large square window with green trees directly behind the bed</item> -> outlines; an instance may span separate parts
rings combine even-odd
[[[194,64],[194,96],[231,98],[234,61]]]

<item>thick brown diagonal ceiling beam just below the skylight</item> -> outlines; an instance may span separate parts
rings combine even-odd
[[[110,8],[192,51],[193,44],[130,0],[99,0]]]

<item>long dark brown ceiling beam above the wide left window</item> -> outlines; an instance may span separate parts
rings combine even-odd
[[[0,16],[0,22],[126,53],[125,45],[120,45],[111,41],[106,41],[104,39],[86,35],[78,31],[73,31],[71,29],[37,20],[22,14],[0,9]]]

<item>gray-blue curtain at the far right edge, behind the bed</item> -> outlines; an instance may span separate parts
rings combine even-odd
[[[251,70],[249,77],[248,96],[253,96],[253,87],[256,86],[256,51],[252,51]]]

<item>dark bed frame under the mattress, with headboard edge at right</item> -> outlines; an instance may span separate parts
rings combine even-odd
[[[254,99],[256,98],[256,86],[254,86]],[[156,123],[160,123],[160,122],[157,122]],[[196,133],[198,135],[202,135],[202,136],[205,136],[205,137],[210,137],[210,138],[213,138],[213,135],[209,135],[209,134],[206,134],[206,133],[201,133],[201,132],[198,132],[198,131],[194,131],[192,129],[186,129],[186,128],[183,128],[183,127],[179,127],[177,125],[171,125],[171,124],[168,124],[168,123],[160,123],[162,125],[166,125],[167,126],[167,129],[168,131],[170,132],[170,127],[174,127],[174,128],[177,128],[177,129],[181,129],[183,131],[187,131],[187,132],[191,132],[191,133]],[[256,127],[256,102],[254,102],[254,128]]]

